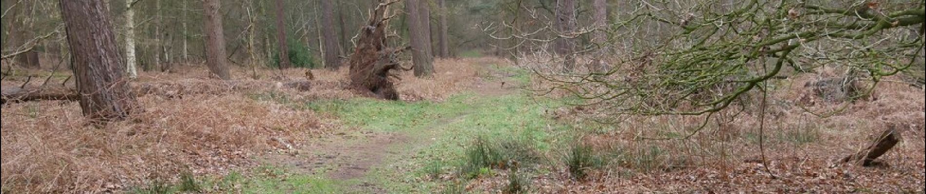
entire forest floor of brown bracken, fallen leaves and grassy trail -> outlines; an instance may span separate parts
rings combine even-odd
[[[3,193],[922,193],[926,177],[924,94],[903,84],[882,84],[875,100],[825,103],[804,100],[801,86],[819,76],[810,74],[775,83],[764,136],[749,107],[691,139],[643,141],[682,137],[702,119],[590,122],[594,108],[532,95],[537,79],[495,58],[438,61],[435,78],[403,73],[399,101],[350,92],[345,71],[313,70],[311,89],[298,91],[282,82],[303,69],[235,69],[230,86],[180,68],[141,74],[144,113],[107,126],[81,120],[76,102],[4,105]],[[42,85],[26,74],[69,76],[14,74],[4,87]],[[803,101],[841,111],[817,117],[793,106]],[[885,123],[904,137],[887,165],[833,162]]]

